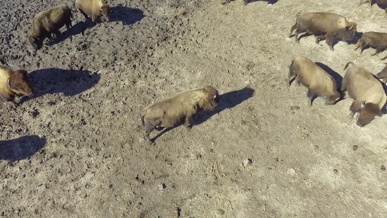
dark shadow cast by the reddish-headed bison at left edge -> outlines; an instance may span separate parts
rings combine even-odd
[[[58,92],[65,96],[77,95],[96,85],[101,78],[98,74],[86,70],[58,68],[32,71],[28,76],[34,85],[33,98]]]

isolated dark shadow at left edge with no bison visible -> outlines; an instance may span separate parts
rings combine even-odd
[[[0,141],[0,160],[20,161],[28,159],[46,144],[45,138],[37,135],[23,136]]]

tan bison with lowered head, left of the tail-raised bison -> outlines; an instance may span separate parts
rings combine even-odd
[[[306,57],[296,57],[289,66],[288,85],[291,78],[295,76],[297,85],[304,85],[308,88],[307,96],[309,106],[312,106],[313,98],[322,96],[325,103],[332,105],[340,99],[337,91],[336,81],[327,74],[321,67]]]

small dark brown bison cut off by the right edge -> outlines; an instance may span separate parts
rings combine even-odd
[[[354,50],[360,49],[360,54],[363,52],[364,47],[369,45],[371,48],[375,48],[376,51],[371,56],[379,54],[387,49],[387,33],[378,33],[378,32],[365,32],[361,35],[361,38],[358,43],[356,43]],[[382,58],[382,60],[386,59]]]

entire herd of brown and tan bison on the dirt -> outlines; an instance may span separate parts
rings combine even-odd
[[[226,0],[226,2],[230,2]],[[247,0],[244,0],[247,4]],[[361,1],[372,5],[372,0]],[[387,0],[376,0],[379,4],[387,4]],[[110,7],[103,0],[75,0],[74,7],[92,22],[98,17],[102,21],[109,21]],[[29,43],[36,50],[43,45],[45,38],[51,38],[51,33],[61,35],[60,28],[72,26],[71,9],[67,5],[59,5],[52,9],[38,13],[32,22],[32,33],[28,36]],[[296,15],[296,22],[290,29],[289,37],[293,36],[295,30],[295,41],[300,42],[298,34],[308,33],[316,36],[316,44],[326,40],[330,50],[334,51],[332,42],[335,37],[343,41],[353,40],[357,26],[355,22],[348,21],[345,17],[328,12],[308,12]],[[370,46],[375,48],[376,55],[387,48],[387,33],[366,32],[363,33],[354,50]],[[386,57],[385,57],[386,58]],[[384,58],[384,59],[385,59]],[[353,99],[350,106],[350,118],[356,112],[360,112],[357,125],[365,126],[376,116],[382,116],[382,108],[386,103],[384,83],[387,81],[387,66],[376,76],[362,67],[348,62],[344,67],[347,72],[342,80],[341,88],[338,88],[332,76],[320,66],[306,57],[296,57],[289,66],[287,83],[290,86],[292,77],[295,77],[297,85],[308,88],[308,104],[312,106],[313,99],[317,96],[325,98],[328,105],[336,104],[345,90]],[[383,83],[379,81],[382,79]],[[7,66],[0,66],[0,96],[5,102],[14,102],[15,95],[33,95],[33,87],[29,81],[26,70],[12,70]],[[141,124],[145,131],[145,137],[149,142],[152,140],[149,134],[153,130],[161,130],[165,127],[173,127],[184,123],[189,129],[191,117],[201,110],[212,111],[219,104],[219,93],[211,86],[195,88],[178,93],[155,102],[144,109],[141,114]]]

